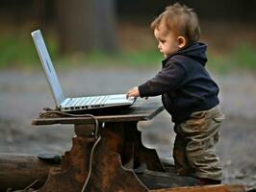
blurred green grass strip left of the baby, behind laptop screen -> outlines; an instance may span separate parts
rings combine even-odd
[[[117,53],[104,53],[94,51],[89,54],[73,54],[60,56],[60,46],[52,34],[46,34],[45,43],[50,57],[55,65],[64,67],[73,65],[127,65],[127,66],[153,66],[159,64],[162,56],[157,50],[146,51],[119,51]],[[30,33],[27,35],[9,33],[0,38],[0,69],[1,68],[38,68],[40,67],[38,53]]]

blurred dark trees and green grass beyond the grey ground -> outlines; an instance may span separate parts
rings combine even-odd
[[[256,2],[179,2],[198,13],[211,66],[255,68]],[[171,3],[175,1],[2,0],[0,66],[36,67],[38,56],[30,32],[38,28],[52,58],[62,65],[69,60],[156,65],[162,56],[149,25]]]

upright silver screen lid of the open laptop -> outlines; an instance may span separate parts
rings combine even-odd
[[[48,54],[43,37],[41,36],[39,30],[32,32],[31,36],[34,39],[38,51],[38,56],[41,61],[48,84],[51,87],[51,91],[54,96],[56,106],[60,107],[60,105],[64,102],[64,92],[59,82],[59,79],[56,75],[55,69],[52,64],[52,60],[50,59],[50,56]]]

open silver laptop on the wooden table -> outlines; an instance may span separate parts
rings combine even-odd
[[[36,45],[38,56],[42,64],[45,77],[50,85],[57,109],[68,112],[96,108],[129,107],[135,103],[136,99],[127,99],[126,94],[66,98],[40,30],[32,32],[31,36],[33,37]]]

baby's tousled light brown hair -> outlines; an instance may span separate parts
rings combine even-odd
[[[185,5],[175,3],[166,7],[166,11],[162,12],[150,27],[153,30],[158,29],[162,22],[165,22],[166,28],[176,36],[184,36],[187,45],[199,40],[201,32],[198,17]]]

